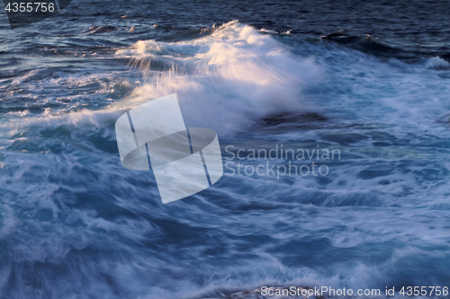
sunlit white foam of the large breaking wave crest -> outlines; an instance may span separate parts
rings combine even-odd
[[[268,114],[311,110],[302,88],[323,75],[314,59],[294,57],[281,42],[236,21],[198,40],[141,40],[117,55],[137,59],[137,65],[160,56],[174,63],[170,71],[145,74],[145,84],[120,106],[176,93],[188,127],[207,126],[220,134],[234,133]]]

